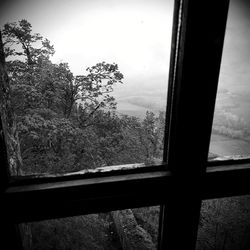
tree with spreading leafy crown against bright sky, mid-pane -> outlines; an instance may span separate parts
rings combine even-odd
[[[118,65],[106,62],[97,63],[87,68],[87,75],[73,76],[68,65],[59,64],[57,68],[58,84],[61,87],[61,101],[63,114],[69,118],[76,102],[82,104],[82,125],[89,123],[90,118],[99,109],[115,109],[116,102],[110,93],[113,85],[122,83],[123,75],[118,70]]]

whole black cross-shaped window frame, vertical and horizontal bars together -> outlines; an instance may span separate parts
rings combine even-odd
[[[228,4],[175,2],[161,164],[9,181],[1,133],[5,246],[19,249],[17,223],[161,205],[158,248],[195,249],[202,200],[249,194],[249,158],[207,161]]]

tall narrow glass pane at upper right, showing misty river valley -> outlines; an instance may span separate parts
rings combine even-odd
[[[250,156],[250,2],[231,0],[210,152]]]

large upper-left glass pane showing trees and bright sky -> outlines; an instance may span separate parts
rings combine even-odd
[[[162,160],[173,5],[2,4],[12,175]]]

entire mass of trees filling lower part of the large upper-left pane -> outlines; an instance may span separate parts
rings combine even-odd
[[[115,113],[113,86],[123,79],[118,65],[101,62],[74,76],[67,63],[51,62],[53,46],[31,28],[22,20],[4,29],[6,46],[17,46],[5,51],[15,55],[7,68],[25,173],[160,159],[163,112],[147,112],[143,121]],[[45,40],[47,45],[38,48],[36,43]]]

